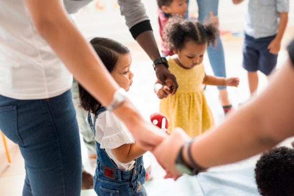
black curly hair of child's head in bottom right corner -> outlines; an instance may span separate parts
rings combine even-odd
[[[262,196],[293,196],[294,148],[274,147],[264,152],[254,172]]]

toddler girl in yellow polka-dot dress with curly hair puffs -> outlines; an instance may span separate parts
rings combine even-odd
[[[167,59],[179,87],[171,96],[166,87],[156,81],[154,92],[161,99],[159,112],[169,119],[171,133],[175,127],[181,127],[190,137],[195,137],[214,125],[201,85],[237,87],[239,78],[221,78],[206,75],[204,71],[204,52],[219,36],[218,21],[210,20],[202,25],[175,16],[166,24],[164,36],[174,53]]]

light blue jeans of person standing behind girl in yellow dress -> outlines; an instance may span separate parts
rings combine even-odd
[[[205,18],[209,20],[209,12],[212,11],[214,16],[218,16],[219,0],[196,0],[198,4],[198,21],[203,23]],[[187,0],[189,4],[189,0]],[[186,18],[188,17],[188,12]],[[215,76],[226,77],[224,51],[221,38],[216,40],[215,47],[207,48],[208,58]],[[218,86],[218,89],[225,89],[225,86]]]

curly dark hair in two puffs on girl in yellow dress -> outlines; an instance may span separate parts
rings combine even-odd
[[[188,41],[194,41],[198,45],[212,44],[219,36],[219,28],[216,22],[201,24],[197,21],[188,21],[182,16],[173,16],[164,27],[164,44],[168,49],[182,49]]]

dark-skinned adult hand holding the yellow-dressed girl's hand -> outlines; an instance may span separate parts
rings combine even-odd
[[[174,95],[178,88],[175,76],[165,67],[164,64],[157,64],[155,72],[162,85],[167,86],[167,90]]]

